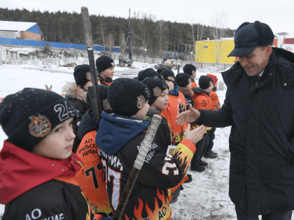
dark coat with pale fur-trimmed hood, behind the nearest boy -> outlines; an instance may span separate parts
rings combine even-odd
[[[90,105],[87,104],[87,91],[76,85],[76,82],[69,82],[64,86],[63,91],[69,101],[73,104],[74,108],[78,111],[78,119],[73,123],[73,133],[76,135],[76,138],[73,142],[73,152],[76,152],[78,145],[80,145],[80,138],[78,138],[78,125],[82,119],[85,112],[90,109]]]

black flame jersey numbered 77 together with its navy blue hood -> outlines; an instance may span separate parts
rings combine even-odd
[[[106,186],[113,212],[118,207],[134,161],[143,142],[149,119],[108,115],[102,112],[102,120],[96,135],[106,173]],[[125,207],[122,220],[171,219],[168,189],[181,182],[190,164],[195,145],[182,140],[173,155],[162,154],[162,147],[153,140],[144,165]]]

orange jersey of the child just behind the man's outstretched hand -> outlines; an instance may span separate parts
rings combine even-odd
[[[176,124],[176,116],[181,112],[185,112],[187,108],[185,97],[176,85],[174,85],[174,87],[175,89],[173,91],[169,91],[169,104],[167,105],[167,108],[162,111],[162,115],[165,116],[169,125],[172,127],[172,133],[174,135],[173,142],[175,145],[178,145],[185,136],[187,124],[182,126]]]

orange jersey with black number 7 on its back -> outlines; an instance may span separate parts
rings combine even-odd
[[[95,142],[96,133],[96,131],[87,133],[78,146],[76,154],[83,160],[84,165],[83,172],[80,170],[76,179],[89,201],[92,212],[105,217],[112,212],[106,192],[102,161],[98,156],[99,147]]]

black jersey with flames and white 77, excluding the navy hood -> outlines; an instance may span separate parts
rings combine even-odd
[[[141,132],[113,155],[99,150],[106,170],[107,193],[113,212],[118,207],[127,179],[137,158],[146,133]],[[195,144],[182,140],[173,155],[162,154],[153,140],[144,165],[134,184],[122,220],[126,219],[171,219],[168,189],[178,185],[186,174],[195,152]]]

